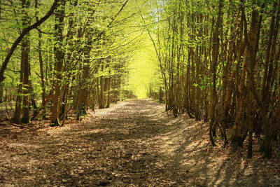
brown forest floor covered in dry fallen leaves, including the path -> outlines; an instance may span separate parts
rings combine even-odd
[[[64,127],[1,125],[0,186],[280,186],[279,156],[212,147],[207,123],[164,109],[132,99]]]

